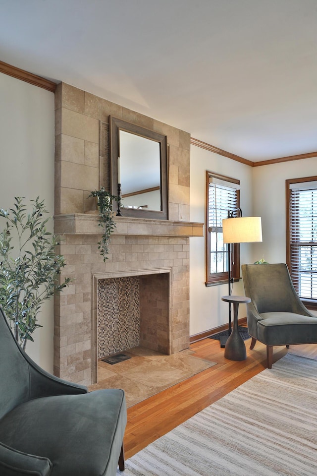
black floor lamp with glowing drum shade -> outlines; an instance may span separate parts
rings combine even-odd
[[[233,214],[240,216],[233,218]],[[222,220],[223,243],[228,244],[228,295],[231,296],[231,257],[234,243],[255,243],[262,241],[261,217],[242,217],[241,208],[230,212],[228,218]],[[229,302],[229,335],[231,334],[231,303]],[[228,336],[220,339],[220,347],[224,347]]]

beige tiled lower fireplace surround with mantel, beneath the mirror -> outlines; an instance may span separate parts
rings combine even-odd
[[[116,218],[104,262],[97,216],[55,216],[55,231],[65,238],[63,272],[74,278],[55,298],[54,373],[61,378],[96,382],[98,289],[107,279],[138,279],[140,345],[166,354],[189,347],[189,236],[200,236],[202,224],[140,220],[140,235],[130,235],[131,220]]]

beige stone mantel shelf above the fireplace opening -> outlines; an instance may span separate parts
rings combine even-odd
[[[114,235],[138,235],[156,237],[203,237],[204,223],[115,217]],[[101,235],[96,214],[73,213],[54,216],[54,232],[57,235]]]

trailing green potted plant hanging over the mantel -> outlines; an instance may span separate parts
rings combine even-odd
[[[92,191],[89,197],[97,197],[97,205],[99,209],[99,226],[103,227],[104,233],[101,241],[98,241],[98,249],[104,258],[104,261],[108,259],[107,254],[109,252],[109,241],[116,224],[113,220],[112,201],[120,202],[120,197],[109,193],[105,187],[101,187],[100,190]]]

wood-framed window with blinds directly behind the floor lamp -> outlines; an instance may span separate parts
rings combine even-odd
[[[239,208],[239,180],[219,176],[207,171],[206,216],[206,286],[228,281],[228,245],[222,239],[222,220],[228,218],[228,210]],[[239,244],[233,246],[231,271],[239,278]]]

